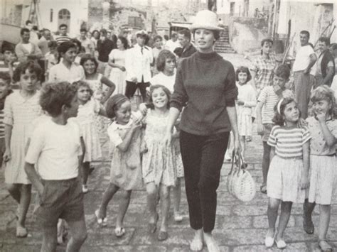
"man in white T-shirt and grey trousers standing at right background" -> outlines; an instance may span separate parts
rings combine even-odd
[[[294,87],[296,101],[301,111],[301,117],[308,116],[308,104],[311,87],[315,81],[315,71],[311,69],[317,60],[314,49],[309,45],[309,31],[299,33],[301,48],[296,53],[296,58],[292,70],[294,72]]]

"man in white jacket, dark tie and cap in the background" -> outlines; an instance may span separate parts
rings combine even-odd
[[[137,44],[134,45],[134,48],[127,50],[127,57],[125,59],[125,68],[127,69],[125,95],[131,98],[139,88],[144,102],[146,99],[146,87],[150,85],[150,67],[154,62],[154,56],[152,49],[145,45],[146,31],[138,31],[136,36]]]

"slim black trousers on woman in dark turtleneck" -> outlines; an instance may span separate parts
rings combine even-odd
[[[192,229],[214,229],[220,170],[230,133],[198,136],[181,131],[181,157]]]

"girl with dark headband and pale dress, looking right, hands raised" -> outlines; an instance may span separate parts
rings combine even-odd
[[[131,103],[123,94],[114,94],[107,101],[107,116],[114,119],[107,128],[112,143],[110,182],[105,190],[100,208],[95,211],[97,223],[107,225],[107,205],[119,190],[123,190],[114,234],[125,234],[124,216],[129,207],[132,190],[141,187],[141,119],[132,115]]]

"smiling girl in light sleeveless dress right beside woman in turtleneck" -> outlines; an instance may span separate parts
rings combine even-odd
[[[150,217],[149,233],[156,231],[159,214],[156,211],[157,195],[161,199],[161,225],[158,239],[168,238],[167,219],[170,208],[170,187],[176,184],[176,153],[174,146],[166,146],[163,142],[165,128],[169,122],[169,89],[162,85],[150,87],[151,109],[146,114],[144,123],[144,143],[146,152],[143,155],[143,179],[146,185],[147,204]]]

